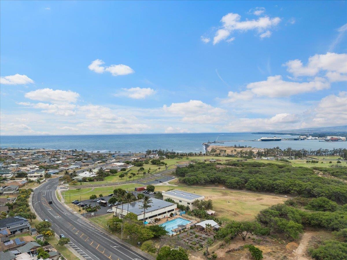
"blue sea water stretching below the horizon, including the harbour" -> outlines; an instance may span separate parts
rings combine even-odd
[[[204,152],[203,142],[218,140],[232,140],[225,142],[225,146],[241,145],[258,148],[280,147],[285,149],[317,150],[347,148],[347,142],[319,142],[318,140],[302,141],[251,141],[263,136],[251,133],[184,133],[184,134],[151,134],[151,135],[87,135],[87,136],[0,136],[1,148],[45,148],[45,149],[78,149],[86,151],[121,151],[139,152],[147,149],[168,149],[176,152]],[[295,136],[278,135],[282,138]]]

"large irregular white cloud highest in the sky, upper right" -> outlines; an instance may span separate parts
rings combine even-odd
[[[256,11],[258,11],[257,14],[261,15],[262,10]],[[221,19],[222,26],[216,32],[213,38],[213,44],[226,40],[234,31],[247,32],[249,30],[256,30],[261,38],[270,37],[270,29],[277,26],[281,21],[281,18],[279,17],[270,18],[268,16],[260,17],[257,20],[240,21],[240,19],[241,16],[234,13],[229,13],[223,16]]]

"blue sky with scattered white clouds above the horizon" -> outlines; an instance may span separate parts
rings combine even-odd
[[[346,1],[0,1],[1,135],[345,125]]]

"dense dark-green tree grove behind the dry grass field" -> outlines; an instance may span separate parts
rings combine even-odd
[[[261,162],[196,163],[177,168],[176,175],[180,182],[187,185],[223,184],[230,189],[325,197],[337,203],[347,202],[347,185],[344,182],[318,176],[306,167]]]

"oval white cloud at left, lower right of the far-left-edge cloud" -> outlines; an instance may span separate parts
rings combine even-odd
[[[48,102],[76,102],[79,94],[71,90],[53,90],[51,88],[37,89],[25,94],[26,98]]]

